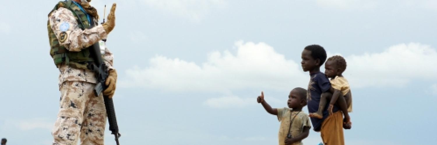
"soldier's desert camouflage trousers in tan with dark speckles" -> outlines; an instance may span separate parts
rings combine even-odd
[[[65,81],[58,118],[52,130],[52,145],[103,145],[106,110],[102,96],[93,92],[95,84]]]

